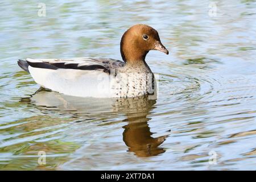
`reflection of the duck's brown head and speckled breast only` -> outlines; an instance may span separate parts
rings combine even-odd
[[[154,108],[156,101],[149,100],[148,97],[135,97],[117,100],[114,108],[119,112],[125,113],[127,118],[123,126],[123,142],[129,147],[129,151],[134,152],[137,156],[155,156],[165,152],[164,148],[159,147],[168,135],[153,138],[150,127],[148,126],[147,115]]]

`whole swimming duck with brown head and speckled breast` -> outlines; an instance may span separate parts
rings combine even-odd
[[[68,96],[127,98],[156,94],[154,73],[145,58],[149,51],[168,55],[158,32],[135,24],[122,36],[122,60],[102,57],[73,59],[19,59],[18,65],[30,73],[42,88]]]

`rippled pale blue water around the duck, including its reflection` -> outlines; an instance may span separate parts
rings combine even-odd
[[[44,2],[45,17],[35,1],[0,3],[0,169],[256,168],[255,1],[218,2],[216,14],[200,0]],[[157,100],[36,92],[16,64],[121,59],[121,36],[136,23],[171,51],[147,56]]]

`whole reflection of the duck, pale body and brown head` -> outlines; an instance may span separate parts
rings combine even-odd
[[[168,137],[153,138],[150,127],[148,126],[147,115],[154,108],[155,100],[148,97],[135,98],[80,98],[65,96],[64,94],[50,92],[40,88],[31,97],[22,98],[21,102],[34,105],[40,110],[55,110],[55,112],[72,113],[79,118],[101,118],[112,117],[116,114],[125,114],[127,125],[123,126],[123,142],[129,148],[128,151],[134,152],[139,157],[155,156],[165,152],[160,144]],[[102,114],[105,113],[105,114]],[[112,114],[108,114],[112,113]],[[116,114],[115,114],[116,113]]]

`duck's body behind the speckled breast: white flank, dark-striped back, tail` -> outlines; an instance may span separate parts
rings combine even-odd
[[[110,72],[125,65],[123,61],[102,58],[26,59],[18,64],[44,88],[69,96],[98,98],[116,97],[110,86]]]

